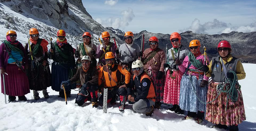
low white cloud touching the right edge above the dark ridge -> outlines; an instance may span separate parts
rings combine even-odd
[[[256,22],[251,23],[250,25],[247,25],[247,26],[225,28],[222,31],[220,31],[219,34],[230,33],[232,31],[244,32],[244,33],[256,31]]]

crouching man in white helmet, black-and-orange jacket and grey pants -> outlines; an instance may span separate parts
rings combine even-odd
[[[134,74],[130,86],[127,88],[128,100],[135,102],[132,106],[135,112],[146,113],[151,116],[154,112],[155,89],[150,77],[144,72],[143,64],[140,60],[132,63],[132,72]],[[135,86],[135,93],[132,95],[132,87]],[[136,95],[135,95],[136,94]]]

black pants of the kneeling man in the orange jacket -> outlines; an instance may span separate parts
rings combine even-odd
[[[118,96],[126,96],[127,91],[125,88],[114,88],[114,89],[109,89],[108,90],[108,103],[115,103],[116,102],[116,95]],[[102,92],[102,95],[100,96],[99,103],[103,105],[103,96],[104,96],[104,91]]]

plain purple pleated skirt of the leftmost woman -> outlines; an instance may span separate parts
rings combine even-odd
[[[16,64],[7,64],[4,74],[6,95],[24,96],[30,93],[28,77],[26,73],[19,69]],[[3,75],[1,74],[1,88],[4,94]]]

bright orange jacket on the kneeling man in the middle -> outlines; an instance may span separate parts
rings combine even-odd
[[[111,68],[112,67],[112,68]],[[120,86],[120,81],[121,81],[121,76],[122,74],[125,76],[125,85],[128,87],[128,84],[131,79],[131,74],[126,70],[123,69],[122,66],[120,65],[112,65],[110,68],[108,65],[104,65],[103,67],[100,68],[99,72],[99,86],[102,84],[103,81],[103,75],[104,75],[104,81],[105,81],[105,86],[106,87],[115,87],[115,86]],[[109,74],[111,77],[109,77]],[[114,79],[114,80],[113,80]]]

